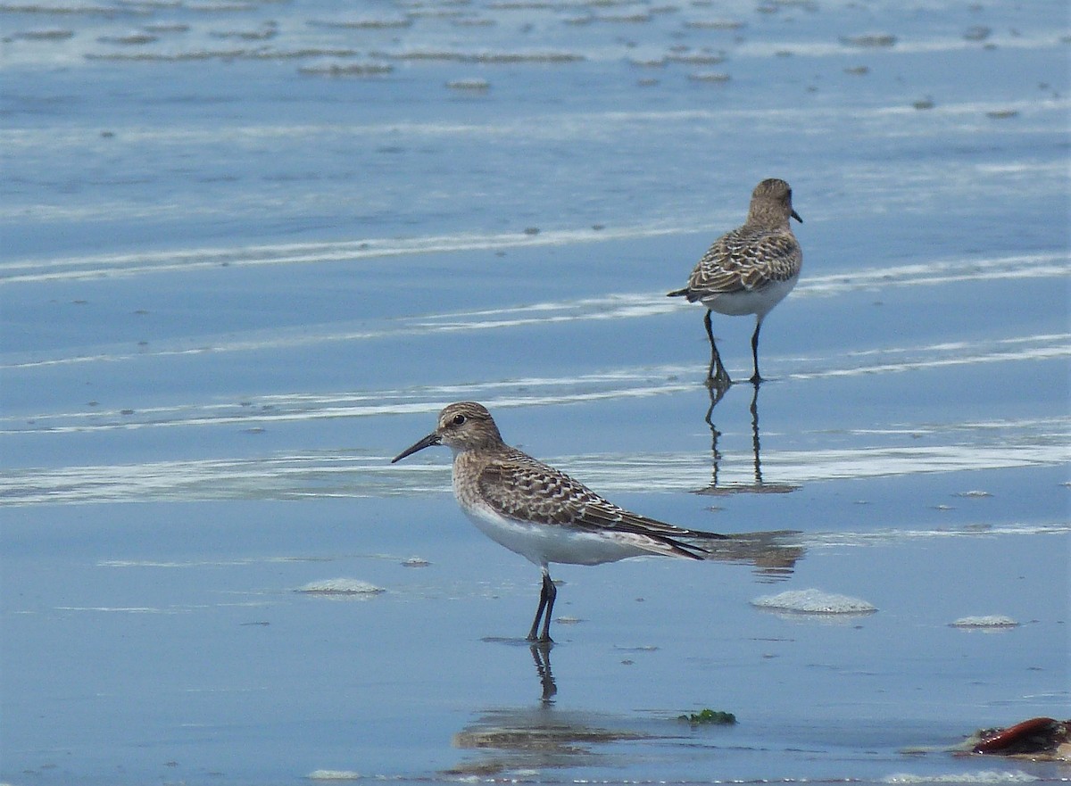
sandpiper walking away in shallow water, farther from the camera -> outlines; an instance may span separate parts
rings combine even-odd
[[[689,303],[699,301],[707,307],[703,323],[710,338],[707,383],[711,387],[724,389],[733,382],[714,344],[711,311],[734,317],[755,315],[755,333],[751,337],[755,374],[751,381],[763,381],[758,374],[758,331],[770,309],[796,286],[803,262],[789,218],[803,223],[793,210],[791,187],[784,180],[764,180],[752,192],[744,225],[715,240],[695,266],[688,286],[668,293],[670,298],[683,296]]]

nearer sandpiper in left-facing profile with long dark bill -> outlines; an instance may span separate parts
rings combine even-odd
[[[454,452],[454,496],[465,514],[485,535],[543,572],[528,633],[531,641],[550,641],[557,595],[550,562],[597,565],[651,554],[704,559],[707,549],[689,541],[726,538],[657,522],[603,499],[564,472],[506,444],[491,412],[473,402],[446,407],[435,430],[391,464],[435,444]]]

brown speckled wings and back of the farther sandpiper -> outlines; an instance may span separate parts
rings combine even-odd
[[[688,282],[688,299],[760,290],[800,272],[802,253],[791,232],[748,226],[714,241]]]

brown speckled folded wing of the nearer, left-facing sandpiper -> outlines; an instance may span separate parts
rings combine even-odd
[[[496,512],[510,518],[582,529],[617,530],[653,538],[684,550],[677,538],[722,538],[712,532],[682,529],[647,518],[603,499],[564,472],[538,462],[521,451],[510,451],[489,463],[480,473],[480,494]],[[692,547],[693,550],[695,549]]]

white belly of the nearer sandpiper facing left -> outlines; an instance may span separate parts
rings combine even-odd
[[[465,514],[495,543],[538,565],[547,562],[597,565],[650,554],[614,532],[587,532],[562,525],[518,522],[483,507],[466,509]]]

